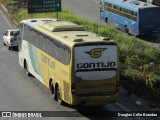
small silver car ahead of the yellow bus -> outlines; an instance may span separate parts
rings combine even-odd
[[[18,47],[18,29],[9,29],[3,34],[3,44],[8,46],[8,50]]]

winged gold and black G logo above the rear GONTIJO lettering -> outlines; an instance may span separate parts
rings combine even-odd
[[[91,51],[85,53],[89,54],[92,58],[99,58],[105,49],[107,48],[94,48]]]

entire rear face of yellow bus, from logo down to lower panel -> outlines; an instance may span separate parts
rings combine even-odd
[[[114,94],[117,88],[117,45],[76,46],[74,52],[76,94]]]

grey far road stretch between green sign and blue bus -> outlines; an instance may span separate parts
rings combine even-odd
[[[62,0],[62,6],[94,22],[100,22],[99,0]]]

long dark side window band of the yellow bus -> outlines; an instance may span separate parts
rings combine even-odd
[[[54,42],[56,40],[49,36],[44,36],[42,33],[28,27],[27,25],[24,26],[24,33],[24,40],[27,40],[29,43],[45,51],[63,64],[69,64],[70,52],[67,46]]]

